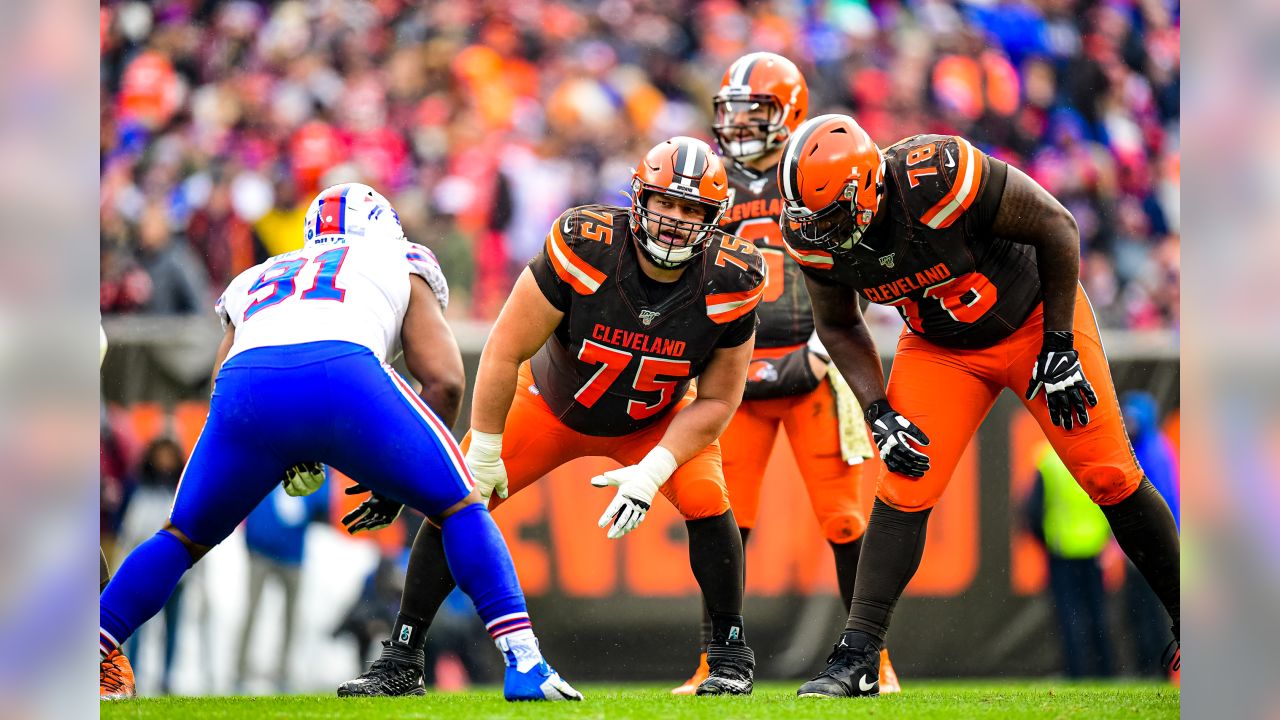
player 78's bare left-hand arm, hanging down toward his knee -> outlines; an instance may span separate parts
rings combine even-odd
[[[884,400],[884,368],[870,329],[863,320],[858,293],[841,284],[814,279],[808,273],[804,283],[813,300],[818,340],[858,396],[858,404],[869,407]]]

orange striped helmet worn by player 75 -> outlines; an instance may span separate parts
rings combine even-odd
[[[682,220],[645,208],[652,193],[691,200],[707,210],[701,222]],[[631,234],[662,268],[678,268],[699,255],[728,210],[728,176],[710,145],[677,136],[645,154],[631,174]]]

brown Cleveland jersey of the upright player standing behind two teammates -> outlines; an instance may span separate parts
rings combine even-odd
[[[769,279],[756,313],[760,327],[755,347],[785,347],[809,342],[813,334],[813,306],[804,287],[804,274],[782,245],[782,193],[773,168],[756,173],[726,160],[730,208],[721,218],[721,229],[755,243],[769,266]]]

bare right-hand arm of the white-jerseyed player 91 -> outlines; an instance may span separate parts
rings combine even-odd
[[[440,301],[419,275],[410,275],[408,310],[401,327],[404,365],[422,383],[422,401],[449,427],[458,421],[467,377],[462,352]]]

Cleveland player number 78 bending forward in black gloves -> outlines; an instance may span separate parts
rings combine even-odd
[[[919,135],[882,152],[845,115],[800,126],[778,182],[818,337],[867,407],[884,461],[845,632],[799,694],[878,694],[878,651],[919,566],[929,510],[1006,387],[1102,507],[1169,611],[1176,648],[1178,528],[1129,446],[1078,282],[1071,214],[963,137]],[[906,322],[887,388],[858,296]]]

